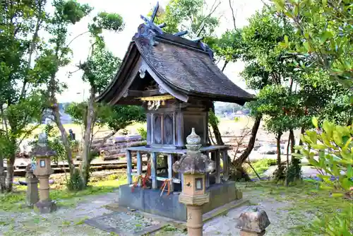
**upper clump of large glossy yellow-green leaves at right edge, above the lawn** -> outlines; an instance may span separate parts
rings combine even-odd
[[[318,120],[313,118],[318,129]],[[325,120],[322,132],[306,131],[301,136],[304,146],[297,146],[298,157],[306,157],[309,163],[321,170],[323,188],[331,189],[335,195],[342,196],[353,187],[353,125],[340,126]],[[314,158],[318,153],[318,160]],[[330,176],[338,180],[330,180]]]

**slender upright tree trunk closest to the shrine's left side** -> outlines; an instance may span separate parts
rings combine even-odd
[[[85,126],[85,134],[83,138],[83,155],[82,162],[80,165],[80,175],[83,180],[84,186],[87,186],[89,180],[89,170],[90,170],[90,143],[91,143],[91,134],[92,134],[92,120],[95,116],[95,89],[90,89],[90,99],[88,100],[87,107],[87,116],[86,116],[86,126]]]

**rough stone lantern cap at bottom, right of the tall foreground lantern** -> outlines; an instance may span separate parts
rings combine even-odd
[[[266,212],[257,206],[250,206],[240,214],[237,228],[250,232],[263,232],[270,225]]]

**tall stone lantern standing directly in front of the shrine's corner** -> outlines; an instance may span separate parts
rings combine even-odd
[[[215,163],[200,152],[201,138],[194,128],[186,143],[187,153],[174,163],[173,170],[184,176],[179,202],[186,204],[188,234],[199,236],[203,235],[203,204],[210,201],[210,195],[206,193],[205,174],[215,170]]]

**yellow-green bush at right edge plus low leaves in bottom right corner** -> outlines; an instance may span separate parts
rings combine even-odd
[[[308,130],[301,135],[303,146],[297,146],[299,158],[307,158],[316,167],[323,179],[321,188],[328,189],[332,197],[344,197],[342,201],[353,199],[353,124],[340,126],[328,120],[323,121],[319,128],[318,120],[313,118],[315,130]],[[315,154],[318,153],[318,160]],[[335,177],[335,178],[333,178]],[[349,202],[343,212],[335,216],[323,215],[316,217],[310,224],[309,231],[315,235],[352,235],[353,211]]]

